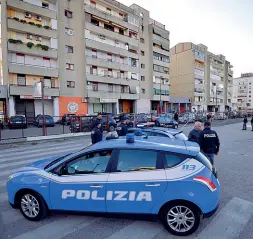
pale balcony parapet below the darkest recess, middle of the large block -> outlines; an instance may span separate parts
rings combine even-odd
[[[103,27],[96,26],[96,25],[91,24],[89,22],[85,22],[85,28],[93,33],[103,35],[105,37],[108,37],[109,39],[114,39],[114,40],[118,40],[121,42],[125,42],[125,43],[128,43],[129,45],[138,46],[138,44],[139,44],[138,40],[136,40],[134,38],[130,38],[128,36],[121,35],[119,33],[106,30]]]

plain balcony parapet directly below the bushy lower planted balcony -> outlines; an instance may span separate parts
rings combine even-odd
[[[10,73],[34,75],[34,76],[48,76],[48,77],[58,77],[59,75],[57,68],[48,68],[42,66],[24,65],[17,63],[9,63],[8,66]]]

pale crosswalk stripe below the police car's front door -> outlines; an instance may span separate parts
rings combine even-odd
[[[99,219],[85,216],[67,216],[13,239],[58,239],[80,230],[96,220]],[[85,238],[85,235],[83,238]]]

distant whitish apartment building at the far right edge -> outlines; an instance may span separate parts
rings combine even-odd
[[[234,90],[238,110],[253,110],[253,73],[241,74],[234,79]]]

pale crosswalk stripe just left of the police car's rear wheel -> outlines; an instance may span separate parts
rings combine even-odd
[[[135,221],[107,239],[151,239],[162,230],[163,227],[158,223]]]

